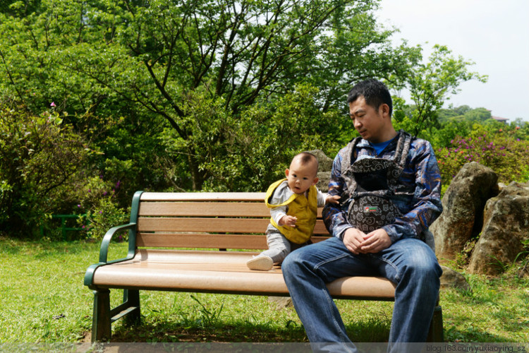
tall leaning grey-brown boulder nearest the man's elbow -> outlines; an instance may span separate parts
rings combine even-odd
[[[498,192],[497,180],[492,169],[470,162],[451,181],[442,199],[443,213],[430,226],[440,262],[454,260],[466,242],[478,236],[485,203]]]

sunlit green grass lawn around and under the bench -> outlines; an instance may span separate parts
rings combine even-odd
[[[111,246],[112,258],[126,244]],[[92,292],[83,285],[99,244],[0,239],[0,342],[83,342]],[[444,291],[448,342],[529,342],[529,280],[466,275],[471,292]],[[115,306],[122,292],[111,291]],[[307,342],[293,308],[267,297],[140,292],[142,324],[112,325],[112,342]],[[384,342],[393,303],[336,301],[353,342]]]

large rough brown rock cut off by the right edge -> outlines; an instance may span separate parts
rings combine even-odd
[[[487,201],[480,239],[468,271],[496,275],[524,251],[529,239],[529,183],[512,182]]]

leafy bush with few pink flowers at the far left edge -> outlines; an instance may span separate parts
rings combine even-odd
[[[35,237],[52,211],[75,202],[88,150],[56,112],[0,107],[0,227]]]

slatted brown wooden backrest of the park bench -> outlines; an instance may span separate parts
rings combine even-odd
[[[138,224],[136,246],[267,249],[270,212],[264,200],[265,193],[138,192],[130,219]],[[329,236],[321,210],[315,226],[320,237],[313,241]]]

